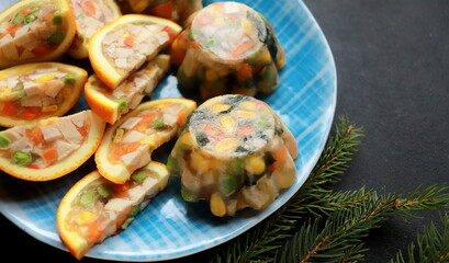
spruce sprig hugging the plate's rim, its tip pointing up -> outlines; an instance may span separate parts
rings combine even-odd
[[[271,262],[276,250],[282,245],[282,240],[291,237],[302,215],[307,210],[302,204],[310,199],[319,199],[329,193],[330,183],[338,182],[348,168],[360,144],[358,138],[362,130],[349,124],[347,117],[340,117],[335,126],[334,136],[329,137],[326,147],[311,175],[299,192],[278,211],[257,225],[246,233],[240,235],[227,244],[221,245],[212,262]]]

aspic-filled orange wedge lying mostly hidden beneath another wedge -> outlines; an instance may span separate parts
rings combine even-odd
[[[161,54],[133,72],[115,90],[111,90],[97,77],[89,77],[85,85],[86,101],[90,108],[109,124],[114,124],[123,114],[134,110],[144,95],[149,95],[166,76],[170,56]]]

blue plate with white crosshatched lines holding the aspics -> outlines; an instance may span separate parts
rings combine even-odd
[[[0,10],[15,1],[0,3]],[[212,1],[205,1],[205,4]],[[287,53],[279,89],[263,100],[281,116],[300,147],[298,179],[267,209],[245,209],[231,218],[211,216],[204,202],[186,203],[178,178],[131,224],[126,231],[93,247],[86,256],[116,261],[159,261],[186,256],[228,241],[281,207],[303,185],[324,148],[336,106],[336,69],[329,46],[301,1],[244,0],[273,25]],[[153,99],[181,96],[168,76]],[[83,98],[72,112],[87,108]],[[168,144],[157,155],[166,160]],[[26,182],[0,174],[0,210],[34,238],[61,250],[56,209],[70,186],[94,169],[90,159],[78,170],[50,182]]]

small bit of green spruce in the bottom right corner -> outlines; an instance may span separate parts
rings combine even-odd
[[[449,216],[448,211],[440,214],[441,228],[434,222],[424,228],[423,235],[416,238],[416,245],[412,242],[407,249],[407,260],[400,250],[390,263],[414,262],[449,262]]]

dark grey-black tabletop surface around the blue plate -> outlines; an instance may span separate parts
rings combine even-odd
[[[292,0],[284,0],[292,1]],[[448,181],[449,1],[305,0],[333,50],[338,116],[366,132],[349,171],[336,185],[409,193]],[[393,218],[366,239],[367,262],[388,262],[438,211]],[[0,216],[3,259],[77,262]],[[204,262],[205,251],[170,262]],[[7,260],[10,261],[10,260]],[[104,262],[83,259],[81,262]]]

